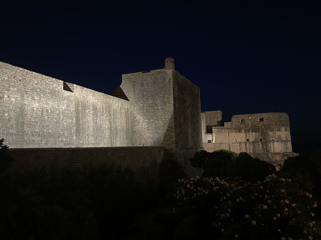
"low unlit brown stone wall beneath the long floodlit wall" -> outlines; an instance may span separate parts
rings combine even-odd
[[[15,161],[12,170],[77,167],[84,161],[115,162],[129,166],[136,180],[144,183],[160,182],[160,164],[164,147],[110,147],[110,148],[11,148]]]

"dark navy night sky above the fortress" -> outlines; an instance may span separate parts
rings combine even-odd
[[[2,62],[111,94],[172,56],[202,111],[274,108],[292,143],[321,143],[321,1],[7,2]]]

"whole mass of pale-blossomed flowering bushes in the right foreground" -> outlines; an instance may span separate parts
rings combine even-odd
[[[174,212],[184,217],[207,212],[214,239],[320,239],[313,218],[317,203],[289,179],[273,174],[247,183],[197,177],[175,187]]]

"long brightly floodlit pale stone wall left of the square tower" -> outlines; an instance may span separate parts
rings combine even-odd
[[[126,100],[0,62],[0,101],[10,148],[131,146]]]

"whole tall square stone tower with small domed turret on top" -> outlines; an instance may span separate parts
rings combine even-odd
[[[113,95],[130,102],[132,146],[202,148],[200,90],[175,71],[172,57],[162,69],[124,74],[122,79]]]

